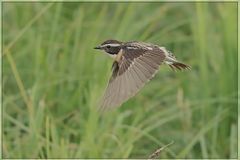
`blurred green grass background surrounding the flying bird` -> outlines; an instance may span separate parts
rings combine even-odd
[[[237,3],[3,3],[3,157],[237,157]],[[100,115],[106,39],[191,65]]]

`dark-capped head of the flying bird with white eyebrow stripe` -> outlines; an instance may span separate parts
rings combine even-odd
[[[95,47],[94,49],[104,50],[109,54],[118,54],[122,47],[122,42],[117,40],[106,40],[100,46]]]

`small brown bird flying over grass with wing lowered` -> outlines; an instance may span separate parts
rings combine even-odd
[[[114,59],[112,76],[100,105],[102,111],[118,107],[133,97],[163,63],[173,70],[190,69],[167,49],[151,43],[106,40],[94,49],[103,50]]]

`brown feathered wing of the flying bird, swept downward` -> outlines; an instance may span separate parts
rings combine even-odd
[[[113,64],[101,110],[120,106],[134,96],[156,74],[165,59],[164,50],[157,46],[127,46],[122,52],[120,61]]]

